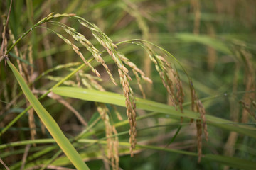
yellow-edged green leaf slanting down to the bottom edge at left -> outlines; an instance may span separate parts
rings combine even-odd
[[[12,64],[10,61],[7,61],[7,63],[11,68],[12,72],[14,72],[14,75],[18,80],[18,84],[20,84],[23,93],[25,94],[26,98],[28,98],[28,101],[31,103],[33,109],[38,114],[38,117],[42,120],[43,124],[46,125],[46,128],[50,132],[50,135],[53,136],[54,140],[58,143],[59,147],[67,155],[68,159],[70,159],[70,162],[72,162],[77,169],[89,169],[85,162],[82,161],[80,154],[78,154],[73,145],[71,145],[70,141],[67,139],[67,137],[65,137],[63,132],[60,130],[60,127],[55,122],[50,113],[48,113],[48,111],[46,111],[46,109],[43,108],[43,106],[38,101],[36,96],[33,95],[31,90],[28,88],[28,85],[24,81],[23,77],[21,77],[21,74],[19,74],[16,67],[14,67],[14,64]]]

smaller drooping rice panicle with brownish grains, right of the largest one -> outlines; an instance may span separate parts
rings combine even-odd
[[[146,40],[127,40],[122,43],[133,43],[136,45],[139,45],[148,52],[149,58],[151,59],[151,62],[155,64],[156,71],[159,72],[159,77],[161,78],[162,84],[166,88],[167,93],[169,94],[169,98],[171,101],[171,106],[174,106],[176,110],[178,109],[177,106],[179,106],[181,113],[183,113],[183,101],[184,101],[184,92],[183,92],[183,86],[181,79],[179,77],[178,72],[176,71],[176,63],[183,69],[183,72],[186,74],[188,77],[188,84],[190,86],[191,90],[191,109],[192,111],[198,112],[201,116],[201,120],[198,121],[197,123],[200,123],[200,125],[196,125],[198,135],[197,135],[197,141],[198,141],[198,162],[201,161],[201,147],[202,147],[202,128],[203,128],[203,133],[205,135],[206,141],[208,141],[208,130],[207,130],[207,124],[206,124],[206,111],[205,108],[203,107],[203,104],[201,101],[198,99],[196,96],[196,91],[193,87],[193,82],[191,78],[188,76],[188,73],[186,72],[186,69],[184,69],[178,60],[171,55],[169,52],[166,50],[162,49],[161,47],[154,45],[151,42],[148,42]],[[149,49],[148,46],[144,45],[145,43],[149,43],[150,45],[159,48],[165,56],[171,57],[173,60],[172,63],[169,63],[163,55],[158,55],[156,52],[153,50]],[[174,67],[171,66],[171,64],[174,64]],[[183,121],[183,118],[181,116],[181,122]],[[191,120],[193,122],[193,120]]]

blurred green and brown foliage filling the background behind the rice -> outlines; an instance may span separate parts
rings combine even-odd
[[[7,13],[9,1],[1,1],[1,16]],[[193,79],[193,86],[198,97],[203,101],[206,113],[220,118],[233,120],[236,123],[254,124],[255,126],[255,69],[256,69],[256,1],[253,0],[174,0],[174,1],[85,1],[85,0],[47,0],[47,1],[14,1],[9,26],[15,39],[26,32],[33,24],[48,16],[49,13],[75,13],[87,21],[95,23],[115,43],[122,40],[144,39],[154,42],[170,52],[186,68]],[[1,18],[1,24],[4,22]],[[78,24],[77,21],[68,18],[60,19],[61,22],[79,30],[80,33],[98,47],[104,50],[92,37],[90,31]],[[43,27],[50,27],[56,32],[70,37],[64,30],[57,26],[44,23]],[[1,25],[2,33],[3,26]],[[75,40],[73,42],[75,44]],[[9,41],[9,46],[11,41]],[[53,35],[45,28],[36,28],[18,43],[18,50],[28,60],[28,53],[33,56],[33,77],[38,77],[48,69],[60,64],[81,62],[70,46],[63,40]],[[31,51],[28,50],[31,47]],[[78,45],[79,47],[79,45]],[[119,45],[119,50],[132,62],[136,63],[147,76],[153,80],[153,84],[142,84],[146,92],[146,98],[161,103],[169,103],[166,89],[161,84],[159,73],[154,69],[146,52],[141,47],[132,44]],[[85,57],[90,53],[81,49]],[[10,59],[17,57],[11,52]],[[104,57],[115,77],[118,77],[116,66],[107,55]],[[171,59],[169,60],[171,61]],[[97,66],[96,62],[92,62]],[[4,128],[17,113],[23,111],[26,101],[22,97],[16,98],[20,89],[10,70],[0,63],[0,128]],[[122,94],[122,88],[114,86],[102,67],[96,67],[102,74],[102,86],[109,91]],[[177,67],[181,71],[180,67]],[[53,86],[56,77],[63,77],[70,69],[60,69],[50,72],[50,77],[43,77],[35,82],[35,89],[45,90]],[[186,108],[190,108],[190,89],[186,75],[180,72],[185,91]],[[133,77],[134,78],[134,77]],[[118,78],[117,78],[118,79]],[[73,79],[75,80],[75,78]],[[118,81],[118,80],[117,80]],[[134,93],[142,97],[136,82],[131,82]],[[13,98],[16,101],[9,108]],[[92,102],[78,101],[68,98],[66,101],[87,120],[90,124],[98,114],[95,104]],[[43,106],[50,111],[53,118],[68,137],[78,135],[83,128],[73,113],[60,103],[50,98],[45,98]],[[120,108],[124,120],[126,120],[124,108]],[[123,109],[123,110],[122,110]],[[138,111],[139,115],[146,114]],[[114,120],[117,121],[117,120]],[[152,116],[137,123],[138,128],[169,123],[169,126],[138,131],[139,143],[154,144],[166,147],[178,129],[179,122]],[[23,116],[9,131],[1,136],[1,144],[30,139],[28,128],[28,115]],[[36,131],[38,139],[50,137],[48,133],[43,135],[41,123],[36,118]],[[117,128],[122,132],[129,126]],[[181,128],[174,142],[169,148],[181,149],[196,153],[196,129],[188,124]],[[239,135],[220,128],[208,125],[209,141],[203,142],[203,154],[219,154],[230,157],[240,157],[255,161],[255,139],[245,135]],[[95,137],[104,137],[103,132],[97,132]],[[127,139],[127,137],[125,138]],[[122,141],[122,136],[119,137]],[[43,148],[43,145],[34,147],[31,152]],[[21,160],[24,147],[9,148],[1,151],[1,157],[8,165],[16,164]],[[9,151],[11,154],[9,154]],[[48,156],[50,157],[50,156]],[[88,162],[91,169],[105,169],[101,159]],[[119,166],[122,169],[228,169],[228,166],[218,162],[210,162],[202,159],[197,163],[196,157],[185,156],[172,152],[146,149],[138,152],[134,158],[129,152],[121,156]]]

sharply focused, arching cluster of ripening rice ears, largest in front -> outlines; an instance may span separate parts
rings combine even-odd
[[[82,24],[82,26],[85,26],[92,31],[92,35],[102,45],[102,47],[104,47],[105,50],[107,50],[108,54],[112,57],[112,60],[114,60],[114,63],[117,65],[120,84],[122,84],[122,89],[124,91],[124,96],[126,98],[125,103],[127,106],[127,117],[129,119],[129,124],[130,124],[130,130],[129,130],[129,135],[130,135],[129,142],[131,144],[130,152],[131,152],[131,157],[133,157],[133,149],[135,149],[136,135],[137,135],[136,112],[135,112],[136,104],[135,104],[135,99],[134,99],[134,93],[132,91],[131,86],[129,85],[129,81],[131,81],[132,78],[129,76],[129,74],[128,74],[129,71],[128,71],[127,67],[124,66],[124,64],[126,64],[128,67],[130,67],[132,69],[132,72],[134,72],[134,74],[136,75],[136,78],[138,80],[137,82],[139,85],[139,89],[142,91],[142,94],[144,96],[145,96],[145,94],[144,94],[142,85],[140,84],[139,80],[142,78],[145,81],[148,81],[149,83],[151,83],[151,79],[146,77],[144,72],[142,72],[142,70],[139,69],[133,62],[130,62],[127,57],[125,57],[120,52],[117,52],[117,50],[116,50],[117,45],[115,45],[112,42],[112,40],[109,37],[107,37],[107,35],[105,35],[105,33],[102,33],[100,28],[95,26],[95,24],[89,23],[84,18],[75,16],[75,14],[53,14],[53,13],[50,13],[49,16],[47,16],[46,18],[43,18],[42,21],[38,22],[38,23],[48,22],[48,23],[55,24],[55,25],[63,28],[65,30],[65,32],[68,33],[69,35],[72,35],[72,37],[77,42],[80,42],[81,45],[85,46],[87,48],[87,50],[89,52],[91,52],[92,56],[94,57],[94,59],[97,62],[100,62],[100,64],[102,64],[102,66],[105,67],[105,70],[107,71],[107,74],[109,74],[110,79],[112,80],[113,84],[117,85],[116,81],[114,80],[114,77],[112,76],[112,73],[110,72],[110,69],[108,69],[107,64],[105,64],[105,61],[102,59],[99,50],[97,50],[97,48],[95,48],[94,45],[92,45],[92,43],[89,40],[87,40],[84,35],[78,33],[74,28],[66,26],[65,24],[60,23],[60,22],[50,21],[53,18],[58,18],[61,16],[69,16],[69,17],[73,17],[73,18],[78,18],[78,21]],[[51,31],[53,31],[53,30],[51,30]],[[63,39],[66,44],[70,45],[73,48],[73,50],[75,51],[75,53],[77,53],[80,56],[82,61],[85,62],[85,64],[88,67],[90,67],[92,72],[94,72],[97,75],[97,77],[100,77],[100,73],[97,72],[97,70],[94,67],[92,67],[90,62],[88,62],[85,59],[85,57],[82,55],[82,52],[80,52],[79,48],[76,45],[74,45],[72,42],[70,42],[70,40],[65,38],[63,35],[60,35],[59,33],[56,33],[55,31],[53,31],[53,33],[58,35],[59,38]],[[55,79],[55,78],[48,76],[48,79]],[[65,84],[68,84],[68,82],[65,82]],[[70,85],[71,84],[72,83],[70,82]],[[102,110],[100,110],[100,111],[102,111]],[[106,119],[105,119],[105,121],[106,121]],[[107,125],[106,122],[105,122],[105,125]],[[109,129],[110,128],[107,128],[107,126],[106,126],[106,130],[108,132],[110,132]]]

